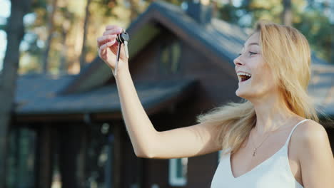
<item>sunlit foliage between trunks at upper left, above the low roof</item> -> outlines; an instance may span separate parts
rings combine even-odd
[[[47,8],[51,3],[52,1],[46,0],[34,0],[33,2],[31,15],[34,16],[34,21],[31,24],[26,24],[26,36],[23,43],[28,47],[21,49],[20,73],[41,71],[41,57],[45,51],[50,22],[50,12]],[[96,38],[103,33],[106,25],[115,21],[129,23],[129,11],[124,3],[125,0],[91,1],[89,6],[91,14],[88,19],[88,36],[92,37],[87,38],[86,48],[93,50],[88,51],[87,62],[96,56]],[[64,63],[66,68],[69,69],[75,67],[75,64],[79,62],[81,52],[79,49],[81,49],[83,37],[83,19],[86,14],[85,6],[86,1],[57,1],[54,31],[49,52],[49,68],[51,72],[59,72],[60,61],[66,61]],[[126,25],[121,26],[126,27]],[[63,48],[68,49],[68,51],[62,51]]]

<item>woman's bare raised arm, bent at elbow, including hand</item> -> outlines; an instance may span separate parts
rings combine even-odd
[[[103,36],[98,38],[98,54],[112,71],[115,68],[117,51],[115,38],[118,33],[121,33],[121,28],[118,26],[107,26]],[[216,144],[218,125],[211,123],[204,122],[163,132],[156,131],[138,98],[128,70],[128,59],[123,51],[115,79],[123,120],[138,157],[160,159],[193,157],[221,149],[221,146]]]

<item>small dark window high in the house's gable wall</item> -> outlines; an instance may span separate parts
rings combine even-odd
[[[163,45],[160,61],[165,73],[177,73],[181,58],[181,45],[178,41]]]

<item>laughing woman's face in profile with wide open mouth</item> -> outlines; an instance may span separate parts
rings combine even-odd
[[[270,68],[263,60],[258,32],[248,38],[233,62],[239,80],[237,96],[251,100],[270,96],[278,91]]]

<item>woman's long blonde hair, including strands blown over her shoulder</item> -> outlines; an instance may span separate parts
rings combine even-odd
[[[288,108],[301,117],[319,121],[307,87],[310,80],[310,47],[297,29],[268,21],[256,24],[260,48]],[[282,47],[283,46],[283,47]],[[197,122],[215,122],[220,126],[218,144],[233,154],[246,140],[256,123],[253,104],[248,100],[228,103],[198,115]],[[224,152],[224,153],[226,153]]]

